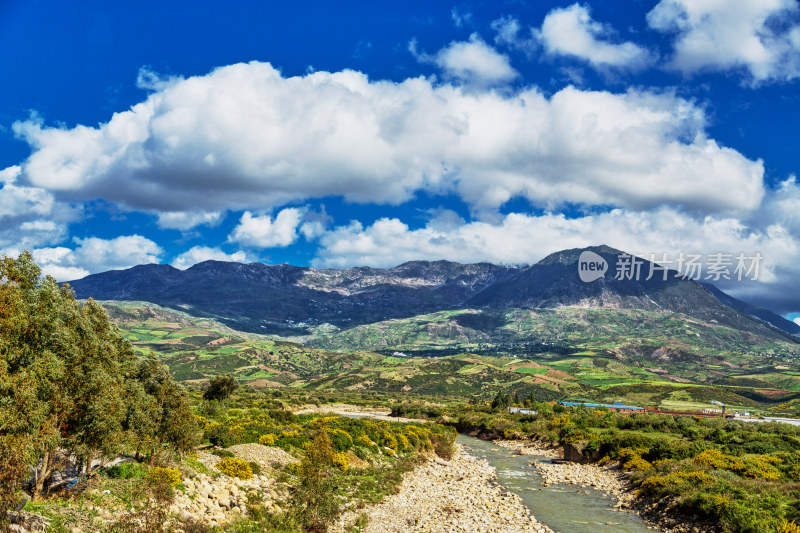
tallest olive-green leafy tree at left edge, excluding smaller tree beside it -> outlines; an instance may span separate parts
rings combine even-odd
[[[42,279],[30,253],[3,258],[0,280],[9,304],[0,318],[0,432],[24,443],[28,461],[41,461],[36,498],[59,449],[88,466],[119,447],[121,391],[135,357],[102,307],[81,305],[69,287]]]

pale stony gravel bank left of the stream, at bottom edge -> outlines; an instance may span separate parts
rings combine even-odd
[[[431,458],[407,474],[399,493],[345,513],[336,531],[346,531],[361,514],[369,520],[364,531],[371,533],[552,533],[497,482],[494,468],[460,445],[452,460]]]

